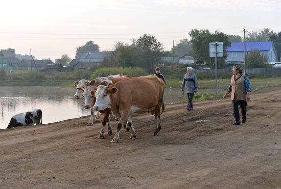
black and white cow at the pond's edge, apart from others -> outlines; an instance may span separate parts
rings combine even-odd
[[[40,109],[14,115],[7,128],[34,125],[35,123],[36,125],[42,124],[42,111]]]

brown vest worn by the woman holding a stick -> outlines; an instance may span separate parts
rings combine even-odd
[[[231,77],[231,100],[246,100],[246,90],[244,84],[245,73],[235,80],[235,75]]]

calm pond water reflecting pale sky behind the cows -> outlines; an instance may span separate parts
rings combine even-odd
[[[85,110],[84,99],[76,100],[75,88],[61,87],[0,87],[0,128],[7,128],[12,116],[33,109],[42,110],[43,123],[53,123],[90,114]],[[198,93],[214,94],[214,90],[198,90]],[[219,94],[222,93],[219,91]],[[165,103],[182,101],[180,89],[165,89]]]

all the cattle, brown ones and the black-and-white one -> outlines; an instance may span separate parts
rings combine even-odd
[[[84,98],[84,108],[90,109],[90,120],[87,125],[94,122],[95,112],[102,118],[102,128],[99,138],[105,137],[105,125],[108,123],[108,135],[112,134],[110,115],[119,120],[116,133],[111,143],[118,143],[122,125],[126,131],[131,131],[130,139],[136,138],[135,129],[131,115],[133,113],[151,113],[154,115],[156,128],[154,135],[158,135],[161,129],[159,119],[164,111],[163,94],[165,83],[155,75],[140,76],[129,78],[122,74],[110,75],[108,77],[98,77],[91,81],[82,79],[74,82],[77,89],[74,97]],[[40,122],[41,120],[41,122]],[[33,110],[32,112],[17,114],[12,117],[7,128],[15,126],[27,126],[42,124],[42,111]]]

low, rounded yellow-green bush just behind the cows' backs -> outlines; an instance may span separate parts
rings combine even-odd
[[[111,67],[111,68],[100,68],[97,69],[95,72],[91,74],[90,79],[95,79],[97,77],[101,76],[109,76],[109,75],[116,75],[116,74],[124,74],[127,75],[128,77],[137,77],[137,76],[142,76],[142,75],[148,75],[148,73],[138,67]]]

